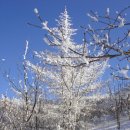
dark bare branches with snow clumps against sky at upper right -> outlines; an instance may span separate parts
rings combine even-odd
[[[93,23],[82,26],[87,34],[89,47],[93,48],[92,50],[96,49],[97,52],[102,50],[99,55],[91,51],[86,58],[93,58],[94,61],[104,58],[114,59],[117,65],[112,66],[114,70],[112,75],[121,80],[130,80],[129,9],[130,6],[127,6],[120,11],[113,12],[107,8],[102,14],[90,11],[87,15],[96,26]]]

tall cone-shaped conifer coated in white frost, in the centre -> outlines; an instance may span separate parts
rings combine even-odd
[[[35,13],[40,18],[37,9]],[[90,114],[95,102],[103,97],[100,92],[103,85],[99,78],[107,67],[107,61],[91,63],[91,59],[85,58],[89,53],[85,35],[83,44],[75,43],[73,35],[76,29],[71,27],[66,9],[56,21],[57,27],[53,28],[48,27],[47,21],[42,22],[42,28],[48,32],[45,43],[52,46],[53,51],[35,51],[40,62],[26,63],[46,86],[52,100],[57,101],[57,129],[75,130],[80,125],[83,127],[80,122],[82,110],[86,108],[83,114]]]

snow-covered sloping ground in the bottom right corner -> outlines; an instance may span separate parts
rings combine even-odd
[[[90,130],[117,130],[116,121],[105,121],[101,124],[91,128]],[[130,130],[130,120],[128,118],[123,117],[121,119],[121,129],[120,130]]]

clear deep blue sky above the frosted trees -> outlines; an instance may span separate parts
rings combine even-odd
[[[45,32],[28,26],[26,23],[38,23],[33,10],[38,8],[45,20],[51,26],[66,6],[75,28],[87,25],[86,13],[90,10],[103,13],[106,8],[112,12],[121,10],[130,5],[129,0],[0,0],[0,68],[16,72],[16,64],[22,62],[25,40],[30,42],[31,50],[43,50],[43,37]],[[80,41],[81,37],[77,37]],[[13,75],[15,77],[15,75]],[[6,81],[0,74],[0,93],[8,88]]]

